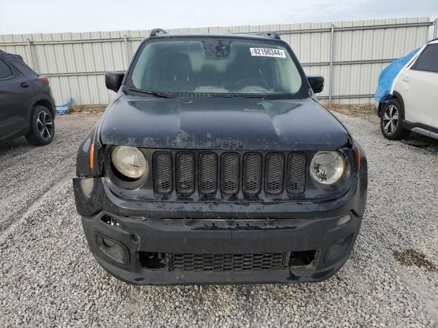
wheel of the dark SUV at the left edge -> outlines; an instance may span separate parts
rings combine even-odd
[[[30,133],[27,141],[34,146],[44,146],[53,140],[55,135],[55,120],[53,113],[44,106],[35,106],[32,111]]]

